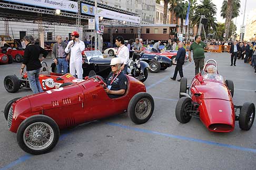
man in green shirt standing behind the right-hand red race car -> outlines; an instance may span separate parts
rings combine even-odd
[[[201,36],[196,35],[195,36],[195,41],[191,44],[189,48],[189,61],[191,62],[191,51],[193,51],[193,59],[195,63],[195,75],[199,73],[199,68],[200,71],[203,70],[204,66],[204,47],[206,47],[206,44],[201,41]]]

